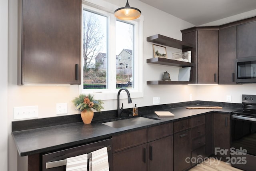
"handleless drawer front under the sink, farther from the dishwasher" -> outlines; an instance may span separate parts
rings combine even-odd
[[[148,142],[173,134],[173,123],[148,128]]]

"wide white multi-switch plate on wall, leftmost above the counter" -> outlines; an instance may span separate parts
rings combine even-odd
[[[38,117],[38,106],[14,107],[14,119],[28,119]]]

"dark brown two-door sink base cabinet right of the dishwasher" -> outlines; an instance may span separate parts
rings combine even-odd
[[[172,171],[173,124],[112,137],[113,171]]]

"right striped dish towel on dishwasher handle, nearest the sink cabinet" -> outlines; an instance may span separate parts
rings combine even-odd
[[[109,171],[107,147],[92,152],[89,171]]]

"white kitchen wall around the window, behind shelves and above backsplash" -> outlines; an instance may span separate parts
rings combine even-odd
[[[7,1],[7,0],[5,0]],[[118,6],[124,6],[125,1],[120,0],[105,0]],[[168,71],[171,77],[175,78],[174,73],[177,68],[147,64],[146,59],[153,58],[152,43],[146,42],[146,37],[154,34],[162,34],[175,38],[182,39],[180,30],[190,28],[194,25],[180,20],[170,14],[162,12],[156,8],[148,6],[138,0],[129,0],[130,6],[139,8],[144,16],[144,97],[132,99],[133,104],[137,103],[138,107],[153,105],[152,97],[160,97],[160,103],[175,103],[189,101],[189,95],[192,94],[192,100],[201,99],[208,101],[226,101],[226,97],[222,97],[228,93],[232,98],[239,102],[238,96],[246,92],[253,93],[253,86],[250,85],[217,85],[214,86],[196,86],[196,85],[146,85],[147,80],[159,80],[163,72]],[[13,121],[13,107],[38,105],[39,117],[54,117],[56,116],[56,103],[67,102],[68,114],[78,113],[72,104],[72,99],[78,96],[78,85],[70,86],[21,86],[17,85],[17,56],[20,56],[20,30],[18,30],[18,0],[9,1],[9,27],[8,27],[8,163],[9,171],[17,171],[17,163],[19,171],[21,164],[26,162],[26,157],[17,157],[16,146],[11,135],[11,122]],[[2,16],[2,15],[1,15]],[[6,40],[4,41],[6,42]],[[171,56],[173,52],[179,50],[167,47],[167,54]],[[1,65],[1,64],[0,64]],[[244,88],[243,88],[244,87]],[[216,95],[219,93],[219,96]],[[233,102],[233,101],[232,101]],[[104,101],[105,110],[116,109],[116,100]],[[124,108],[132,107],[133,104],[127,105],[127,100],[124,99]],[[2,121],[2,120],[1,120]],[[2,126],[2,125],[1,125]]]

